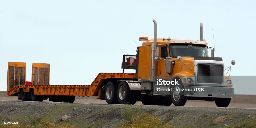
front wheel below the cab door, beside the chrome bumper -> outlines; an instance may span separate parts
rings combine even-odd
[[[179,78],[176,78],[179,79]],[[183,91],[176,91],[177,89],[182,89],[184,88],[184,85],[182,82],[179,80],[178,82],[179,85],[173,85],[173,95],[171,95],[172,102],[175,106],[184,106],[185,103],[187,102],[187,98],[184,97],[184,92]]]

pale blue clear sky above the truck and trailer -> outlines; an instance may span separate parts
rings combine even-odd
[[[0,90],[7,90],[8,62],[50,63],[50,84],[91,84],[99,72],[122,72],[123,54],[136,54],[139,37],[199,40],[200,22],[215,57],[233,76],[254,76],[255,1],[2,1]],[[214,30],[214,39],[213,31]],[[134,40],[134,41],[133,41]],[[215,45],[214,45],[215,42]],[[251,68],[250,68],[251,67]],[[128,70],[127,70],[128,71]],[[133,70],[128,72],[134,72]],[[256,94],[236,85],[235,94]],[[236,88],[254,88],[236,91]]]

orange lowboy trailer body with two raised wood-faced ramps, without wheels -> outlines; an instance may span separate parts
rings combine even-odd
[[[135,73],[99,73],[90,85],[50,85],[50,64],[33,63],[31,82],[26,82],[25,69],[26,63],[8,62],[8,96],[19,95],[23,91],[34,93],[36,96],[98,96],[100,98],[102,91],[100,87],[104,80],[136,79]]]

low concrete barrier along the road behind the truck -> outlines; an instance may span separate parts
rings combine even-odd
[[[0,100],[18,100],[18,96],[7,96],[7,91],[0,91]],[[44,100],[45,102],[52,102]],[[99,103],[107,104],[105,100],[97,99],[97,97],[76,97],[75,103]],[[142,105],[141,102],[136,102],[136,105]],[[173,104],[171,106],[174,106]],[[192,107],[216,107],[214,101],[203,100],[187,100],[185,106]],[[229,108],[256,108],[256,95],[235,95],[231,99]]]

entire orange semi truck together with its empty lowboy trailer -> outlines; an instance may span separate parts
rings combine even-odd
[[[50,85],[50,64],[33,63],[31,82],[26,82],[26,63],[8,62],[8,95],[23,101],[49,98],[52,102],[71,103],[76,96],[98,96],[109,104],[141,101],[144,105],[165,106],[184,106],[189,99],[215,101],[218,107],[227,107],[234,97],[232,79],[224,75],[222,58],[214,57],[214,49],[203,40],[202,22],[200,41],[157,38],[157,22],[153,22],[154,39],[140,37],[143,43],[137,47],[137,54],[122,56],[122,73],[99,73],[90,85]],[[125,69],[136,73],[125,73]],[[177,80],[177,84],[166,86],[173,91],[162,92],[156,78]],[[192,91],[196,88],[203,91]]]

